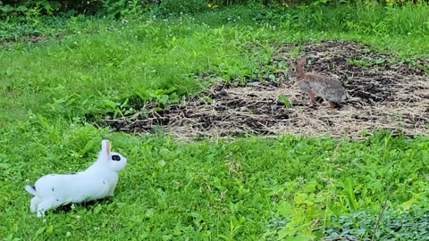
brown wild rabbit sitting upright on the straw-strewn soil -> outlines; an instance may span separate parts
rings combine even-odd
[[[346,89],[342,87],[338,79],[325,76],[314,71],[304,71],[307,58],[302,57],[297,60],[297,67],[290,68],[288,75],[295,77],[298,81],[299,89],[310,96],[311,106],[315,105],[315,96],[322,97],[329,103],[330,107],[343,102],[347,98]]]

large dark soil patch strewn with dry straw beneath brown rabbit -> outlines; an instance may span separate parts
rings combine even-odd
[[[272,64],[293,64],[294,45],[280,46]],[[102,125],[127,132],[162,128],[174,137],[231,137],[244,134],[295,134],[331,137],[364,137],[362,130],[398,131],[408,136],[429,135],[429,78],[425,71],[395,62],[392,54],[377,53],[370,46],[353,42],[324,41],[304,47],[311,61],[308,69],[338,77],[349,99],[340,108],[330,109],[319,99],[308,105],[308,96],[299,91],[287,70],[273,74],[280,84],[250,81],[246,87],[217,83],[200,96],[183,99],[147,118],[103,120]],[[358,66],[353,60],[366,62]],[[426,62],[425,60],[423,60]],[[286,95],[291,106],[279,102]],[[147,109],[156,107],[148,104]]]

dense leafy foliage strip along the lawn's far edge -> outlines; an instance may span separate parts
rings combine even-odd
[[[0,1],[0,17],[37,14],[130,14],[144,12],[151,8],[167,12],[201,12],[207,8],[231,4],[263,5],[336,5],[336,4],[418,4],[427,0],[6,0]]]

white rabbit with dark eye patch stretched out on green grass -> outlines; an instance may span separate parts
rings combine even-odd
[[[25,190],[34,197],[30,201],[30,212],[38,217],[50,209],[63,204],[82,203],[114,195],[118,183],[118,171],[127,164],[122,154],[110,152],[110,142],[101,142],[97,161],[87,170],[71,174],[50,174],[41,177],[34,186]]]

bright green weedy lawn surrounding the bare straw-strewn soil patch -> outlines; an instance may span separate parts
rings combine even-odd
[[[162,131],[133,135],[95,123],[136,113],[148,101],[168,105],[195,95],[215,81],[200,74],[233,83],[255,77],[281,43],[354,40],[427,58],[428,10],[232,6],[128,22],[41,18],[27,29],[2,25],[0,238],[363,239],[377,229],[377,238],[395,237],[395,230],[397,240],[418,240],[427,235],[418,219],[429,219],[428,137],[180,141]],[[25,34],[34,32],[41,41],[30,43]],[[48,173],[86,169],[102,138],[128,158],[115,196],[41,219],[31,214],[23,187]],[[409,225],[395,229],[401,224]]]

